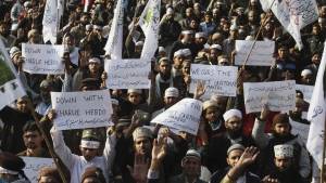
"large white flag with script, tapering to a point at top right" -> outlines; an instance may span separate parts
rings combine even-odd
[[[272,12],[285,29],[293,37],[297,45],[303,48],[300,30],[318,18],[315,0],[260,0],[264,11]]]

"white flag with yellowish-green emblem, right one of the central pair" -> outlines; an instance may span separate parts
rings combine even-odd
[[[139,26],[145,34],[141,58],[151,60],[159,47],[161,0],[149,0],[139,17]]]

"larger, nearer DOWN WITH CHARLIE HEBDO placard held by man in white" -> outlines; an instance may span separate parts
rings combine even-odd
[[[112,104],[108,90],[51,92],[58,130],[111,126]]]

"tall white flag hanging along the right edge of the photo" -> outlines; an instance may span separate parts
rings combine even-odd
[[[312,94],[311,104],[308,110],[308,120],[311,121],[306,148],[322,169],[323,149],[324,149],[324,130],[325,130],[325,110],[326,102],[324,97],[324,73],[326,67],[326,42],[324,43],[324,53],[322,63]]]

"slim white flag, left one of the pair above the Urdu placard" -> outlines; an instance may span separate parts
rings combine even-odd
[[[114,17],[112,21],[109,38],[104,47],[105,55],[111,55],[112,60],[122,58],[123,21],[124,6],[122,0],[118,0],[114,9]]]

